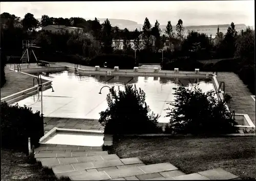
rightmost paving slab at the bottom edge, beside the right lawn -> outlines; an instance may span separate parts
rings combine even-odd
[[[222,168],[217,168],[217,169],[211,169],[211,170],[206,170],[202,172],[198,172],[200,175],[203,175],[209,179],[233,179],[233,178],[238,178],[238,176],[227,172],[226,170]]]

